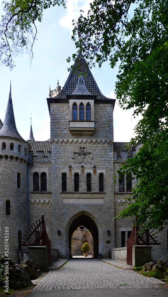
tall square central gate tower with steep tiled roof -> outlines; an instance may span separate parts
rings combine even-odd
[[[60,94],[47,99],[51,119],[53,247],[71,254],[71,236],[84,225],[93,237],[94,257],[114,247],[113,108],[79,55]],[[75,67],[76,65],[74,65]],[[60,230],[58,236],[57,230]],[[110,230],[108,235],[107,231]]]

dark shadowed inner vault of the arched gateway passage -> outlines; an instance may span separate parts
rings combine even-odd
[[[84,225],[92,234],[93,237],[93,257],[97,258],[99,254],[99,240],[98,240],[98,229],[95,222],[86,215],[81,215],[74,219],[69,227],[69,252],[71,254],[71,237],[76,228],[80,225]]]

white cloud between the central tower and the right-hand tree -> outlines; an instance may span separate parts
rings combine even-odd
[[[112,91],[110,95],[106,95],[108,98],[116,99],[116,95]],[[136,116],[134,119],[133,108],[129,110],[123,110],[117,102],[113,112],[113,123],[114,123],[114,141],[115,142],[129,142],[134,136],[134,127],[138,123],[142,116]]]

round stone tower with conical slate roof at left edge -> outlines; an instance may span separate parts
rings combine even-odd
[[[18,262],[18,244],[28,227],[27,166],[29,144],[17,132],[13,112],[11,86],[0,130],[0,253],[5,250],[5,227],[9,227],[9,257]]]

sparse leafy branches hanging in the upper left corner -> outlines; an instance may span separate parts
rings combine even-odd
[[[36,39],[36,20],[41,22],[43,10],[63,5],[64,0],[10,0],[3,1],[4,15],[0,23],[1,64],[12,69],[13,57],[27,51],[33,58],[33,43]]]

